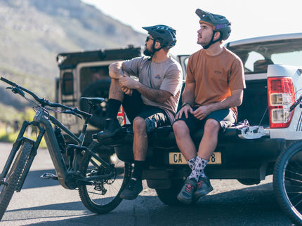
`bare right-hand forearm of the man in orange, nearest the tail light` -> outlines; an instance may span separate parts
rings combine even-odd
[[[229,109],[231,107],[237,107],[242,104],[243,99],[243,89],[237,89],[235,91],[231,91],[231,95],[228,98],[221,102],[216,102],[210,105],[203,105],[198,107],[193,115],[197,119],[204,119],[211,112],[217,111],[219,109]]]

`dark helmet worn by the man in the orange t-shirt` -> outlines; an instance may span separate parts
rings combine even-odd
[[[225,18],[223,15],[217,15],[217,14],[212,14],[208,13],[206,11],[202,11],[201,9],[197,8],[195,12],[200,20],[199,22],[205,22],[206,24],[212,25],[214,27],[214,34],[215,32],[220,32],[221,33],[221,38],[216,40],[216,41],[221,41],[221,40],[226,40],[230,36],[230,21],[228,21],[227,18]],[[211,44],[214,44],[216,41],[213,41],[214,34],[212,37],[212,40],[210,44],[207,46],[211,46]],[[204,47],[204,46],[203,46]]]

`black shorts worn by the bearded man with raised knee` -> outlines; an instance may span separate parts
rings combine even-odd
[[[140,93],[133,90],[132,95],[125,95],[122,102],[126,116],[131,124],[136,117],[142,117],[147,124],[147,134],[160,126],[169,126],[171,122],[163,109],[145,105],[140,97]]]

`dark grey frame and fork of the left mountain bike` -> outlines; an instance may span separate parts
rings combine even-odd
[[[91,154],[93,158],[95,158],[97,161],[100,161],[103,165],[110,168],[110,164],[107,164],[105,161],[103,161],[103,159],[100,159],[98,155],[96,155],[94,152],[91,152],[91,150],[88,149],[87,147],[82,146],[84,143],[86,128],[88,125],[88,119],[89,118],[85,119],[81,134],[79,135],[79,137],[77,137],[77,135],[74,135],[74,133],[72,133],[66,126],[60,123],[58,119],[55,119],[55,117],[51,116],[51,114],[49,114],[44,108],[40,107],[36,112],[36,114],[34,115],[34,120],[32,122],[28,122],[28,121],[23,122],[18,138],[13,144],[11,154],[9,155],[8,160],[6,161],[6,165],[4,166],[4,170],[1,173],[1,178],[0,178],[1,183],[5,183],[4,178],[6,178],[9,168],[11,167],[11,164],[13,162],[13,159],[15,158],[15,154],[18,152],[18,149],[22,145],[22,142],[30,142],[32,143],[32,150],[31,150],[31,154],[29,155],[29,161],[27,161],[25,169],[20,178],[20,182],[18,182],[18,187],[16,189],[18,192],[20,192],[22,185],[25,181],[25,178],[27,176],[27,173],[29,172],[29,168],[32,166],[32,161],[34,160],[34,157],[37,154],[37,149],[43,137],[46,141],[46,145],[48,147],[48,152],[51,156],[51,160],[53,161],[53,166],[55,167],[55,171],[58,176],[58,181],[60,182],[60,185],[62,185],[66,189],[70,189],[70,190],[75,189],[77,187],[76,185],[77,182],[92,184],[93,182],[91,182],[91,180],[98,180],[98,179],[101,180],[112,176],[113,172],[111,172],[108,175],[99,175],[99,176],[93,175],[91,177],[86,177],[86,178],[82,177],[81,180],[78,180],[77,182],[74,181],[75,179],[73,176],[70,176],[74,174],[79,175],[79,171],[78,171],[79,164],[77,161],[77,157],[79,155],[79,152],[83,150],[89,152],[89,154]],[[55,136],[52,124],[58,126],[58,128],[62,129],[65,133],[67,133],[67,135],[70,135],[70,138],[72,138],[72,140],[77,142],[77,144],[79,145],[79,146],[76,145],[72,146],[74,149],[74,159],[73,159],[74,167],[70,170],[68,170],[66,167],[65,160],[61,153],[58,140]],[[37,128],[39,128],[39,135],[37,136],[37,140],[34,141],[24,137],[24,133],[28,126],[36,126]]]

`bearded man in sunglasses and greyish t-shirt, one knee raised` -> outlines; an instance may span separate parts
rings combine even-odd
[[[178,62],[169,55],[176,44],[176,30],[166,25],[143,27],[149,36],[145,41],[146,56],[114,62],[109,66],[111,77],[108,119],[98,140],[121,131],[117,113],[122,103],[133,128],[134,170],[122,199],[136,199],[143,190],[142,171],[147,154],[147,135],[159,126],[174,121],[183,82]],[[136,79],[130,76],[138,77]]]

